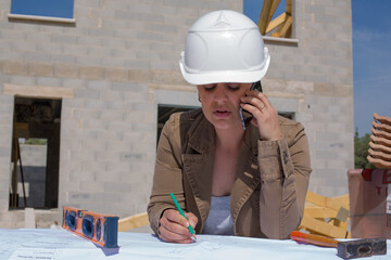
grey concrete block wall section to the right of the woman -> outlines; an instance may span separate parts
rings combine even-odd
[[[266,40],[272,63],[265,92],[298,101],[295,120],[305,126],[311,147],[310,190],[325,196],[348,193],[346,172],[354,167],[351,21],[350,0],[297,0],[298,43]]]

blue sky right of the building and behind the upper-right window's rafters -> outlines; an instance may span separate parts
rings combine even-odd
[[[255,23],[261,0],[244,0],[243,12]],[[354,128],[370,133],[374,113],[391,117],[391,1],[352,0]],[[276,11],[285,11],[281,0]]]

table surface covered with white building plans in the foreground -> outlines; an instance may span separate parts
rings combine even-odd
[[[387,240],[390,248],[391,240]],[[0,230],[2,259],[341,259],[336,248],[297,242],[198,235],[191,245],[169,244],[146,233],[118,233],[118,249],[102,249],[65,230]],[[391,259],[374,256],[361,259]]]

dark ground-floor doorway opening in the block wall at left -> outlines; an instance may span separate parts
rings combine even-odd
[[[58,207],[61,103],[15,98],[10,209]]]

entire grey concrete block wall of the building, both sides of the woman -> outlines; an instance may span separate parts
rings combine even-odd
[[[75,0],[74,25],[9,20],[10,6],[11,0],[0,1],[0,227],[23,225],[23,211],[8,209],[14,96],[5,84],[73,91],[62,99],[60,207],[37,211],[40,226],[60,221],[62,206],[119,217],[146,211],[157,104],[198,105],[178,68],[187,29],[213,10],[241,12],[242,1]],[[306,127],[310,188],[346,193],[345,172],[353,167],[350,1],[297,0],[293,10],[299,43],[266,41],[272,65],[264,89]]]

